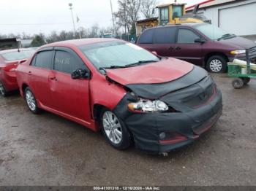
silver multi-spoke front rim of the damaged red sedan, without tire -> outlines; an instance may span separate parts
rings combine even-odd
[[[120,144],[122,140],[121,124],[113,112],[106,111],[102,116],[102,125],[106,136],[113,144]]]

